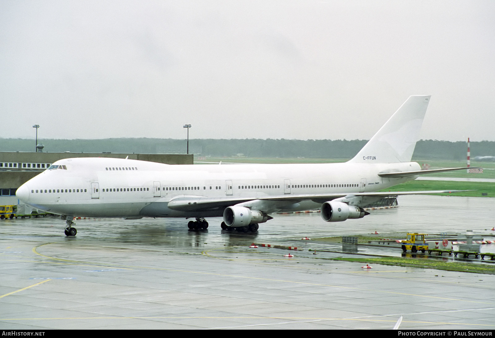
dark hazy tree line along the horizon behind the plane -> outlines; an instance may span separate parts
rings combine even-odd
[[[350,159],[366,140],[289,140],[289,139],[190,139],[189,153],[196,156]],[[43,139],[50,153],[142,153],[185,154],[186,140],[161,138]],[[0,138],[0,151],[35,151],[34,139]],[[466,158],[465,141],[420,140],[413,159],[461,161]],[[471,142],[471,157],[495,156],[495,142]]]

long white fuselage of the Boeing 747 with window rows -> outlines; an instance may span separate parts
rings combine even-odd
[[[223,209],[179,211],[173,200],[187,197],[256,197],[373,192],[414,179],[382,178],[383,171],[419,170],[415,162],[394,164],[165,165],[74,158],[26,182],[17,196],[51,213],[81,217],[215,217]],[[267,213],[316,209],[311,200]]]

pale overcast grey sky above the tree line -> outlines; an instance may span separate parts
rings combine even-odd
[[[495,1],[0,0],[1,137],[495,140]]]

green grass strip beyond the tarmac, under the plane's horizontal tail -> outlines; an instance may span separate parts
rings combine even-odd
[[[414,180],[397,184],[381,191],[421,191],[421,190],[475,190],[452,194],[433,194],[441,196],[495,197],[495,182],[457,182],[457,181],[420,181]],[[486,193],[487,196],[483,196]]]

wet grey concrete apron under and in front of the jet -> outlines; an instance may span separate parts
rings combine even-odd
[[[342,245],[301,240],[374,231],[495,234],[493,199],[398,201],[399,208],[337,223],[319,213],[277,214],[257,233],[221,230],[220,218],[198,232],[185,219],[82,219],[71,238],[57,218],[3,220],[0,329],[391,329],[402,315],[401,329],[493,330],[494,275],[362,269],[324,259],[349,255]],[[304,251],[248,248],[253,242]],[[401,255],[361,246],[357,253]]]

